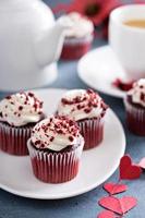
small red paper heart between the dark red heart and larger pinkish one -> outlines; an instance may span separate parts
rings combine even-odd
[[[104,189],[109,193],[109,194],[118,194],[121,192],[125,192],[128,190],[128,186],[125,184],[118,184],[118,183],[106,183],[104,185]]]

